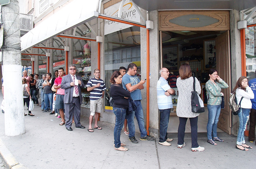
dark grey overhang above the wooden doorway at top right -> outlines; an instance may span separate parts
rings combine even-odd
[[[133,0],[147,10],[245,10],[256,6],[255,0]]]

